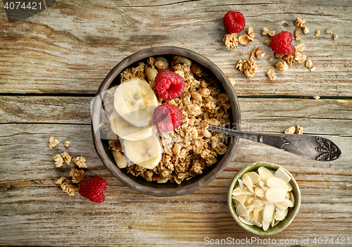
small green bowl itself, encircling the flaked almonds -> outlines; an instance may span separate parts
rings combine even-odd
[[[252,172],[258,170],[259,167],[265,167],[270,170],[277,170],[279,167],[281,167],[289,177],[291,177],[291,185],[292,185],[292,194],[294,194],[294,207],[289,208],[289,213],[287,213],[287,216],[284,218],[284,220],[280,221],[275,227],[269,227],[267,231],[264,231],[261,227],[257,227],[255,225],[251,226],[249,224],[244,224],[239,220],[239,216],[236,213],[236,209],[234,208],[234,203],[232,201],[232,191],[234,188],[236,188],[238,184],[238,180],[244,175],[246,172]],[[242,228],[246,229],[249,232],[252,232],[253,234],[261,235],[261,236],[269,236],[272,234],[277,234],[284,230],[286,227],[291,224],[292,220],[294,220],[294,217],[296,217],[299,207],[301,205],[301,191],[299,190],[298,184],[294,177],[289,173],[284,167],[272,164],[272,163],[267,163],[267,162],[256,162],[252,163],[250,165],[246,165],[246,167],[242,168],[236,176],[234,176],[234,179],[232,179],[232,182],[230,184],[229,191],[227,192],[227,204],[229,205],[230,213],[232,217],[234,217],[234,220],[239,224]]]

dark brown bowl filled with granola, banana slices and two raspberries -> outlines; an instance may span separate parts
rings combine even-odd
[[[237,137],[208,130],[239,127],[232,84],[189,49],[160,46],[127,56],[101,83],[91,111],[103,165],[151,196],[200,189],[225,169],[237,147]]]

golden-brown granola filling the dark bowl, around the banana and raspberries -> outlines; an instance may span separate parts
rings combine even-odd
[[[141,176],[148,182],[176,182],[180,184],[185,179],[201,175],[206,167],[218,162],[219,156],[227,151],[224,134],[209,132],[208,125],[225,127],[230,123],[229,108],[231,106],[227,94],[222,93],[218,80],[211,77],[209,72],[188,58],[173,56],[148,58],[138,63],[136,68],[129,68],[120,74],[120,82],[132,77],[147,80],[153,89],[153,76],[148,68],[172,70],[184,78],[184,92],[177,99],[167,103],[177,106],[182,111],[182,125],[172,132],[161,132],[163,153],[161,162],[153,169],[146,169],[133,164],[123,157],[123,148],[118,137],[108,141],[115,161],[119,167],[126,167],[127,172],[134,176]],[[155,78],[155,76],[154,76]],[[108,90],[104,107],[107,115],[113,107],[113,89]],[[162,99],[158,98],[158,105]],[[108,106],[110,105],[110,106]],[[104,122],[101,130],[108,129],[109,122]]]

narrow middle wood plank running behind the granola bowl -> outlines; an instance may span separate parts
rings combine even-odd
[[[90,125],[91,97],[1,96],[0,123],[38,122]],[[240,98],[241,128],[284,132],[294,125],[307,134],[352,135],[352,101]]]

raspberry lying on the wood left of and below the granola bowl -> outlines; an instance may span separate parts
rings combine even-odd
[[[91,177],[83,180],[78,193],[94,203],[102,203],[105,200],[103,191],[106,190],[107,186],[108,183],[102,177]]]

